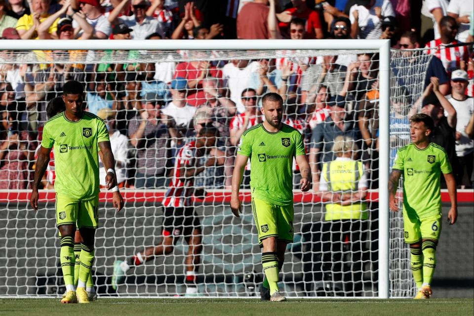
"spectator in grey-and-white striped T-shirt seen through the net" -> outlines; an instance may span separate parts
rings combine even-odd
[[[344,87],[347,67],[336,64],[338,56],[323,56],[323,62],[311,65],[303,73],[301,80],[301,102],[305,103],[308,91],[315,84],[323,84],[328,87],[331,96],[336,96]]]

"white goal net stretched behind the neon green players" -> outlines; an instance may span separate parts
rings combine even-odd
[[[123,211],[116,213],[110,193],[102,189],[100,194],[93,267],[99,296],[186,295],[189,276],[197,296],[259,296],[263,273],[248,190],[250,166],[242,183],[240,218],[234,217],[229,202],[238,140],[263,121],[261,97],[268,92],[282,96],[283,122],[302,133],[319,179],[313,190],[301,193],[294,163],[294,240],[287,246],[280,289],[288,297],[414,294],[402,218],[400,213],[387,217],[389,168],[382,167],[389,166],[397,147],[409,142],[406,115],[423,91],[429,55],[393,50],[389,65],[389,50],[380,42],[360,40],[357,46],[336,41],[338,49],[331,47],[334,41],[318,45],[332,49],[290,41],[257,49],[258,43],[238,41],[229,45],[231,50],[215,41],[205,43],[217,47],[212,50],[160,50],[162,41],[151,40],[130,42],[134,50],[123,41],[88,50],[84,47],[97,44],[56,42],[50,49],[41,44],[43,50],[8,49],[8,43],[0,52],[0,296],[57,296],[65,290],[53,159],[42,181],[38,212],[31,210],[28,198],[47,105],[73,79],[84,84],[85,110],[107,123],[125,200]],[[250,47],[241,48],[245,45]],[[412,76],[407,67],[415,66],[418,75]],[[355,202],[363,211],[353,219],[329,218],[328,202],[314,191],[330,192],[327,184],[319,186],[325,177],[320,173],[323,163],[336,158],[334,121],[336,134],[354,139],[352,158],[364,168],[356,182],[365,197]],[[216,146],[186,151],[206,126],[218,129]],[[53,152],[52,158],[59,155],[56,146]],[[183,227],[169,227],[163,223],[163,205],[178,212],[187,198],[176,193],[182,189],[176,166],[183,161],[205,166],[184,184],[187,191],[193,189],[190,203],[198,224],[190,220]],[[101,183],[104,177],[101,170]],[[195,228],[201,230],[200,242],[190,249],[191,239],[182,235]],[[163,255],[160,245],[170,233],[174,246]],[[116,265],[124,277],[114,289],[118,260],[124,262]]]

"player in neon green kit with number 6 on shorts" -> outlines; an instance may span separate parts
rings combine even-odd
[[[418,289],[415,299],[427,299],[433,294],[431,280],[441,233],[441,172],[451,199],[449,224],[454,224],[458,217],[456,180],[446,151],[430,142],[433,129],[433,119],[426,114],[415,114],[410,118],[412,143],[398,149],[389,179],[390,209],[396,212],[395,193],[403,173],[404,237],[410,245],[411,271]]]

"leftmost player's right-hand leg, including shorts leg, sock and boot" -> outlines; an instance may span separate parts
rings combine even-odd
[[[95,259],[95,230],[99,222],[99,197],[79,203],[78,227],[82,241],[80,243],[80,267],[77,295],[79,303],[89,303],[86,283],[91,274]]]

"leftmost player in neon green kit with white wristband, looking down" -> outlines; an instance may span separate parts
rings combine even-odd
[[[61,303],[88,303],[85,286],[94,261],[98,224],[99,147],[107,168],[107,189],[113,192],[112,202],[117,210],[123,207],[123,199],[116,186],[115,160],[107,128],[102,119],[83,111],[82,84],[75,80],[66,82],[63,100],[66,110],[49,119],[43,128],[30,203],[38,210],[38,186],[55,145],[56,221],[61,233],[60,262],[66,284],[66,295]],[[82,237],[77,290],[74,285],[76,224]]]

